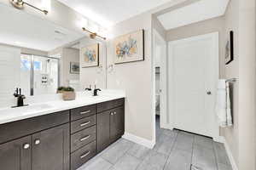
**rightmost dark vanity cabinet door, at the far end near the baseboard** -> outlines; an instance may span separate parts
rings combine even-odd
[[[124,107],[111,110],[110,113],[110,141],[119,139],[125,132]]]

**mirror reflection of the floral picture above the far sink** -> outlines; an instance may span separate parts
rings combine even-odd
[[[82,68],[99,65],[99,43],[81,48]]]

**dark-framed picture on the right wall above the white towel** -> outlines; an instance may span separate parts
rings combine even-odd
[[[226,43],[225,48],[225,63],[229,65],[234,59],[234,32],[230,31],[229,40]]]

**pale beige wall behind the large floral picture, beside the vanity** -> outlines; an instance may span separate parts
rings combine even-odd
[[[113,38],[132,31],[145,31],[145,60],[114,65],[108,72],[108,88],[124,89],[125,133],[152,141],[153,135],[153,78],[151,59],[151,14],[144,13],[113,26],[109,32],[108,65],[113,65]]]

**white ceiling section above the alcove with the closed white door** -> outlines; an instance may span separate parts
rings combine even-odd
[[[158,16],[166,30],[212,19],[225,13],[230,0],[201,0]]]

